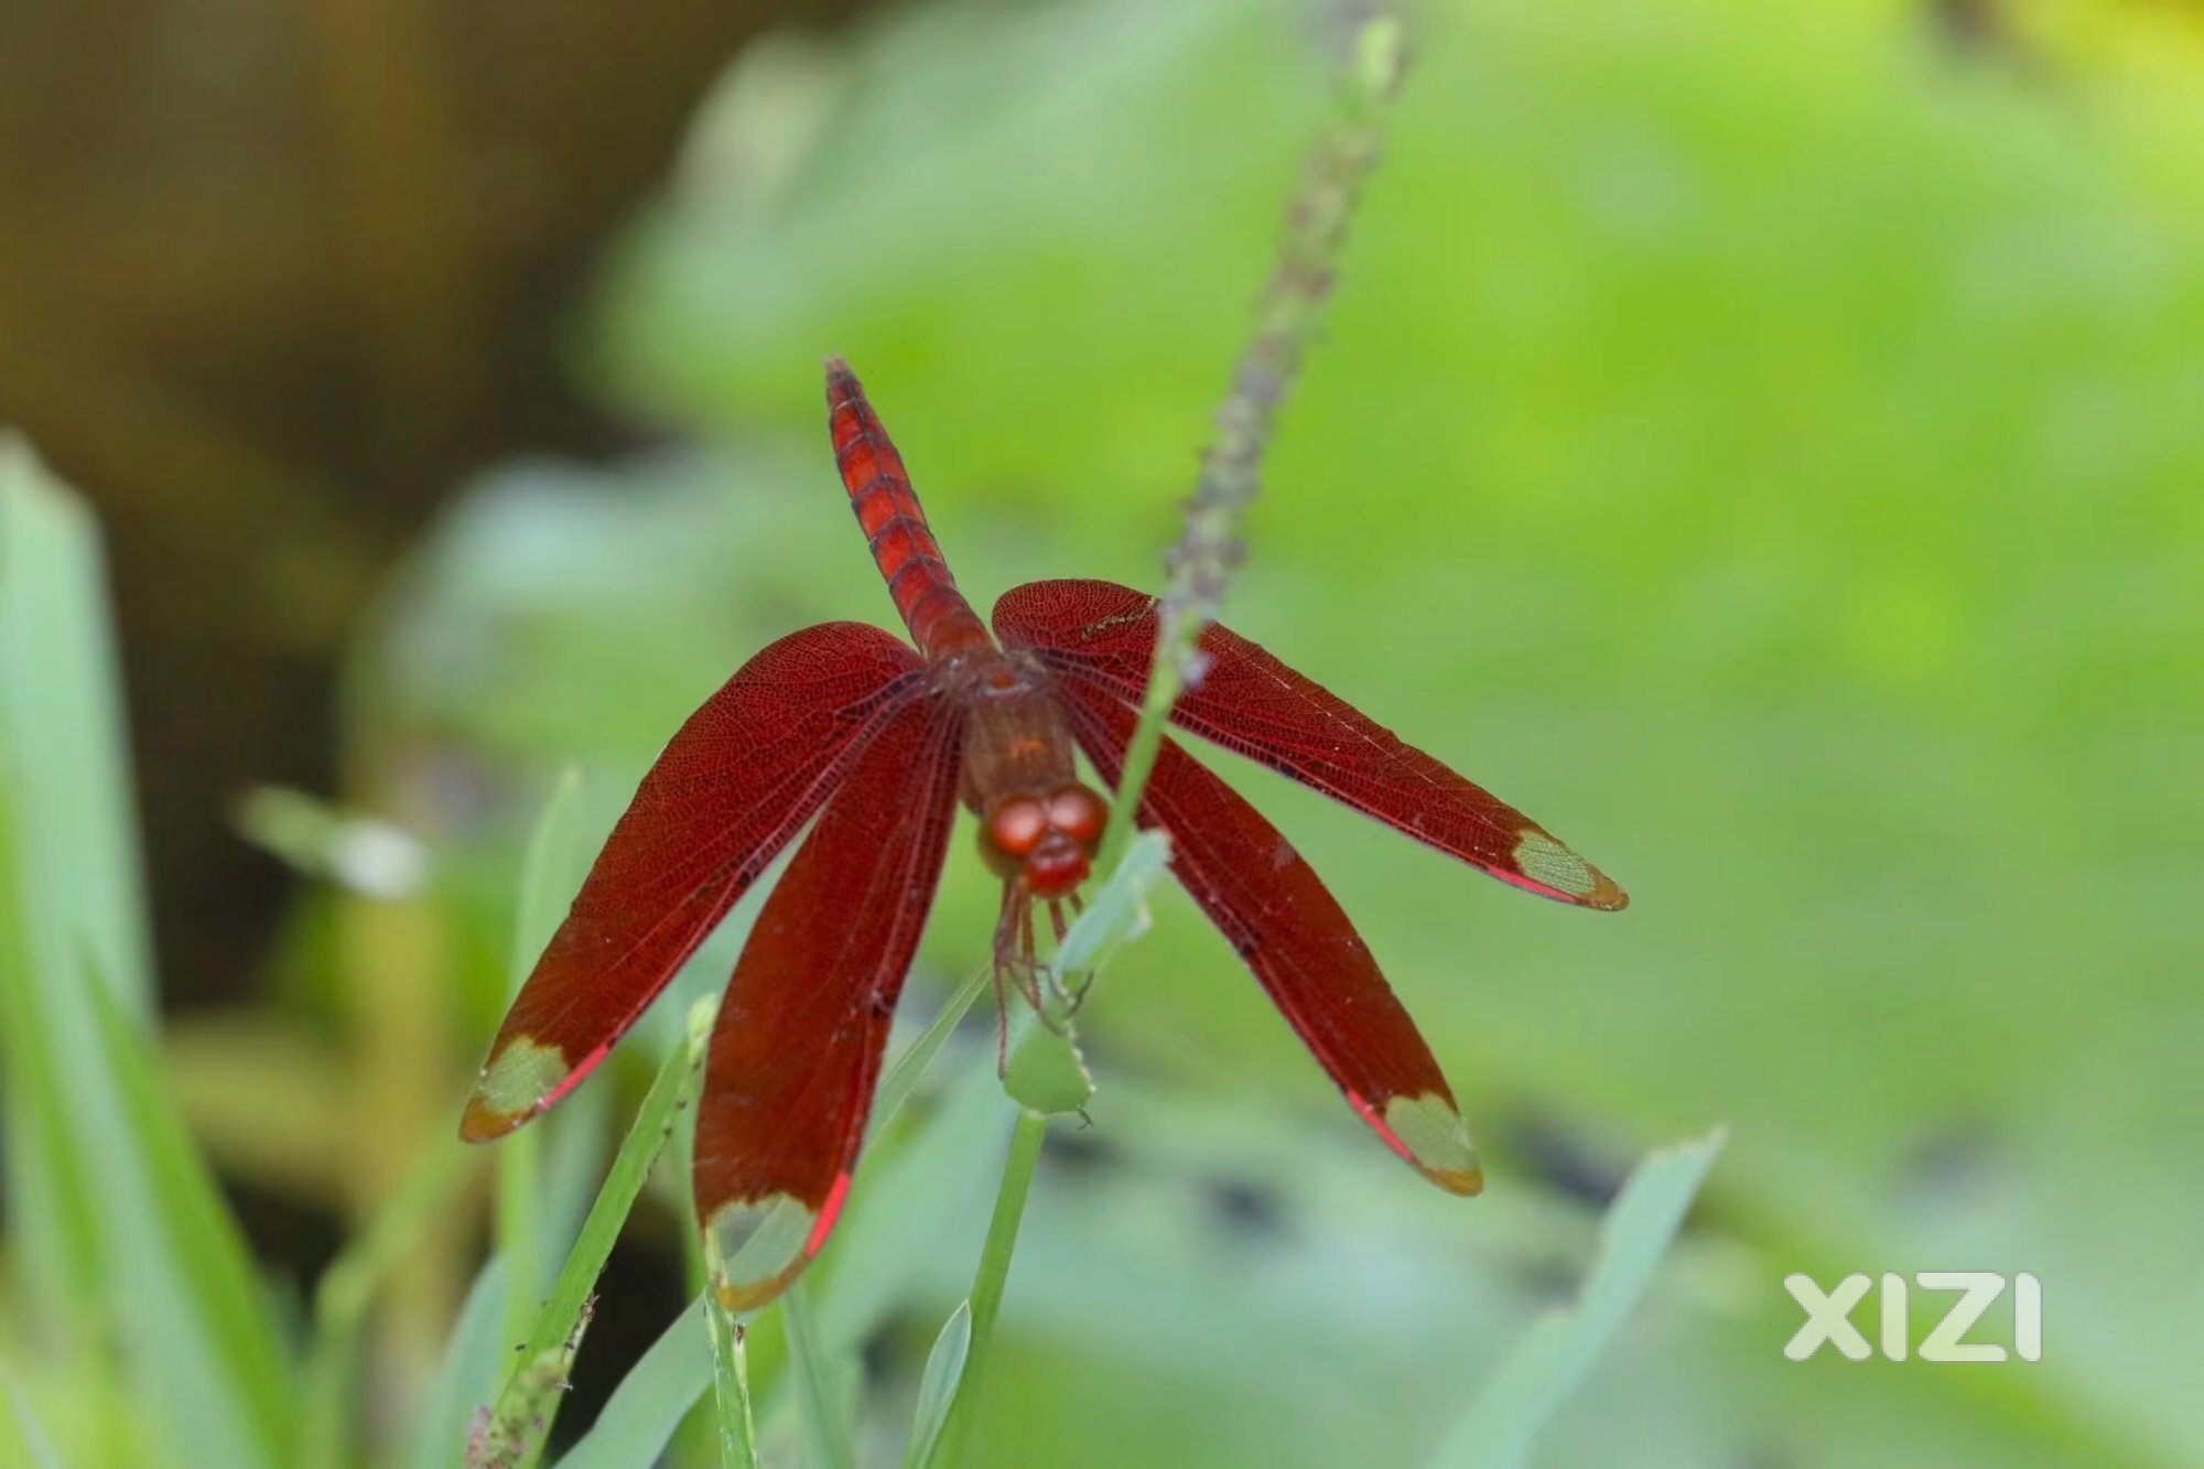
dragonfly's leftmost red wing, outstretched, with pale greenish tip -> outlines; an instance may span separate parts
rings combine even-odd
[[[690,715],[520,986],[461,1136],[507,1134],[573,1090],[923,688],[904,642],[827,622],[769,644]]]

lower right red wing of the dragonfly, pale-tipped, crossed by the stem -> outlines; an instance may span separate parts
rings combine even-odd
[[[1115,785],[1133,710],[1084,679],[1058,677],[1058,690],[1087,759]],[[1170,871],[1362,1120],[1430,1182],[1477,1193],[1477,1149],[1439,1063],[1362,935],[1285,836],[1168,739],[1139,801],[1139,825],[1170,834]]]

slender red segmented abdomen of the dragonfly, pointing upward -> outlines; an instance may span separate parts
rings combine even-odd
[[[941,556],[941,543],[926,525],[904,457],[888,441],[879,415],[864,397],[864,384],[840,357],[827,360],[827,428],[833,435],[835,468],[849,490],[849,505],[873,547],[873,562],[888,580],[895,611],[919,653],[937,657],[970,646],[990,646],[987,626],[957,591],[957,578]]]

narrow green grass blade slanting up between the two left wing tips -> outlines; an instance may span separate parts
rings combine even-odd
[[[703,1070],[703,1052],[716,1010],[716,999],[699,999],[690,1008],[688,1037],[659,1068],[626,1140],[613,1156],[597,1202],[582,1220],[582,1237],[575,1240],[558,1282],[551,1286],[551,1297],[536,1315],[536,1328],[520,1350],[520,1365],[498,1394],[480,1445],[469,1449],[469,1465],[529,1469],[542,1454],[551,1418],[558,1414],[558,1398],[566,1387],[566,1370],[582,1343],[591,1290],[597,1286],[597,1275],[613,1253],[613,1242],[619,1240],[619,1229],[626,1224],[635,1198],[644,1191],[650,1162],[666,1147],[674,1118],[688,1109],[688,1101],[696,1092],[696,1074]]]

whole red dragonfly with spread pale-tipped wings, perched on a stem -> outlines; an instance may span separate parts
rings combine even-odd
[[[818,1255],[849,1193],[904,975],[961,801],[1003,878],[996,986],[1031,986],[1034,907],[1087,880],[1155,655],[1157,600],[1029,582],[965,602],[879,417],[827,362],[835,463],[910,629],[789,633],[672,737],[514,999],[461,1136],[496,1138],[571,1092],[804,825],[734,966],[696,1112],[696,1213],[732,1310]],[[1221,626],[1170,721],[1541,898],[1620,909],[1605,873],[1512,805]],[[1164,741],[1139,823],[1347,1103],[1424,1178],[1483,1176],[1455,1094],[1347,913],[1252,805]]]

